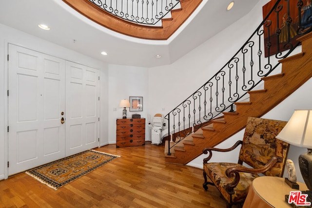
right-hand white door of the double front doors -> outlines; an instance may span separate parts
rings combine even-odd
[[[66,155],[98,147],[98,74],[66,61]]]

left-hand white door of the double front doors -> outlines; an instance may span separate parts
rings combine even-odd
[[[9,44],[9,175],[65,156],[65,61]]]

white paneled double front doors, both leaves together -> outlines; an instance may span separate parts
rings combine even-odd
[[[98,147],[98,70],[9,44],[8,174]]]

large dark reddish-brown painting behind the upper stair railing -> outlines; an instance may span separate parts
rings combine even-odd
[[[291,24],[288,30],[286,21],[288,19],[288,2],[289,16],[291,18]],[[312,26],[312,22],[308,22],[312,15],[312,4],[311,0],[302,0],[303,6],[301,8],[301,26],[308,28]],[[273,8],[276,0],[271,0],[262,7],[263,19],[269,14]],[[298,43],[296,30],[299,28],[299,15],[298,15],[298,0],[281,0],[277,5],[275,11],[271,13],[267,20],[272,20],[270,29],[264,24],[264,45],[266,46],[268,41],[271,42],[270,56],[286,51],[290,48],[289,43],[293,46]],[[268,24],[269,25],[269,24]],[[279,28],[280,34],[276,35],[276,31]],[[265,57],[268,57],[268,50],[265,50]]]

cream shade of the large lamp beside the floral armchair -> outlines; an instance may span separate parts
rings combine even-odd
[[[312,110],[295,110],[276,138],[297,147],[312,149]]]

